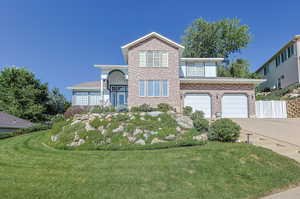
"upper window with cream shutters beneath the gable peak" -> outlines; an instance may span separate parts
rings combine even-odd
[[[148,50],[139,52],[140,67],[168,67],[168,52]]]

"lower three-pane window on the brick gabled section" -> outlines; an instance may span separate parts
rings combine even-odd
[[[167,97],[169,96],[168,80],[139,80],[140,97]]]

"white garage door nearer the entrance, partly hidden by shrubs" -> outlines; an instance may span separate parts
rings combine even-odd
[[[204,117],[211,117],[211,98],[208,94],[186,94],[184,106],[190,106],[193,111],[203,111]]]

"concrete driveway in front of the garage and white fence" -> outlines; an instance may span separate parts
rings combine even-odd
[[[300,118],[234,119],[243,130],[300,146]]]

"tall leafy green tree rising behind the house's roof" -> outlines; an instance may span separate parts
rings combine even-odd
[[[185,57],[224,57],[240,52],[250,41],[249,27],[238,19],[208,22],[196,19],[183,36]]]

